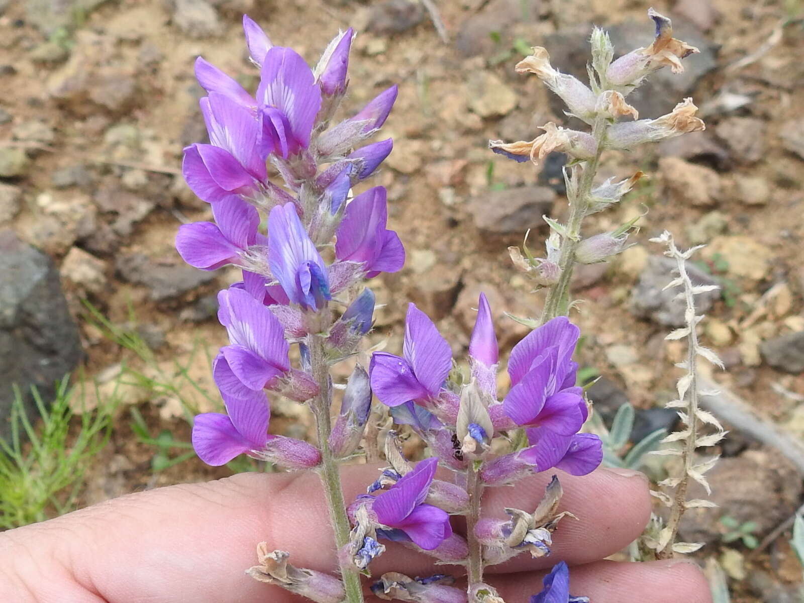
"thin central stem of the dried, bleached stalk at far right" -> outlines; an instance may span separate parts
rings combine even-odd
[[[667,527],[665,530],[669,532],[669,539],[664,546],[658,548],[656,551],[657,559],[669,559],[673,556],[673,544],[675,537],[679,533],[679,524],[687,510],[687,486],[690,481],[690,470],[695,460],[695,445],[698,441],[698,334],[695,333],[695,297],[692,293],[692,281],[687,274],[687,266],[684,264],[684,258],[681,256],[675,244],[671,244],[671,252],[678,265],[679,277],[683,281],[684,298],[687,302],[687,326],[690,333],[687,335],[687,371],[691,377],[689,388],[685,395],[687,400],[687,426],[690,433],[684,441],[684,450],[682,454],[683,474],[681,482],[675,488],[675,496],[673,498],[673,507],[671,507],[670,518],[667,519]]]

